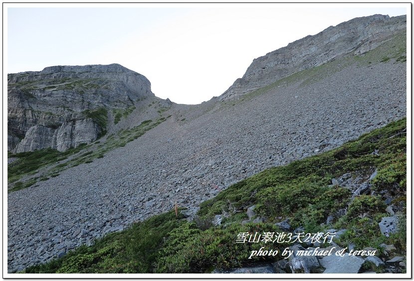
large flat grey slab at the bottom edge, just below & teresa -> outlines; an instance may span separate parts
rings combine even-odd
[[[323,257],[320,263],[325,268],[323,273],[358,273],[364,259],[346,254],[344,257],[331,255]]]

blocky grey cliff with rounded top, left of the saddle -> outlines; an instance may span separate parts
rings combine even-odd
[[[119,64],[51,66],[8,74],[7,149],[64,151],[96,140],[107,110],[153,97],[150,81]],[[99,116],[100,115],[100,116]]]

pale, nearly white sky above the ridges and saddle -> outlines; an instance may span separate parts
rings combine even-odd
[[[354,17],[407,14],[410,4],[12,6],[3,9],[7,73],[119,63],[146,76],[156,96],[198,104],[254,58]]]

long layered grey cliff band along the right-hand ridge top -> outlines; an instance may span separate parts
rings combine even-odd
[[[319,66],[341,55],[364,54],[406,29],[407,16],[357,17],[308,35],[265,56],[256,58],[242,78],[234,81],[219,98],[239,97],[292,73]]]

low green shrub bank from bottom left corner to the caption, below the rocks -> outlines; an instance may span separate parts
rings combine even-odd
[[[181,213],[176,217],[171,211],[109,234],[90,247],[79,247],[63,258],[29,267],[25,273],[203,273],[211,267],[246,264],[251,250],[269,246],[264,242],[235,243],[239,232],[256,231],[280,230],[270,224],[234,224],[203,231],[183,220]],[[270,247],[280,250],[284,246]]]

